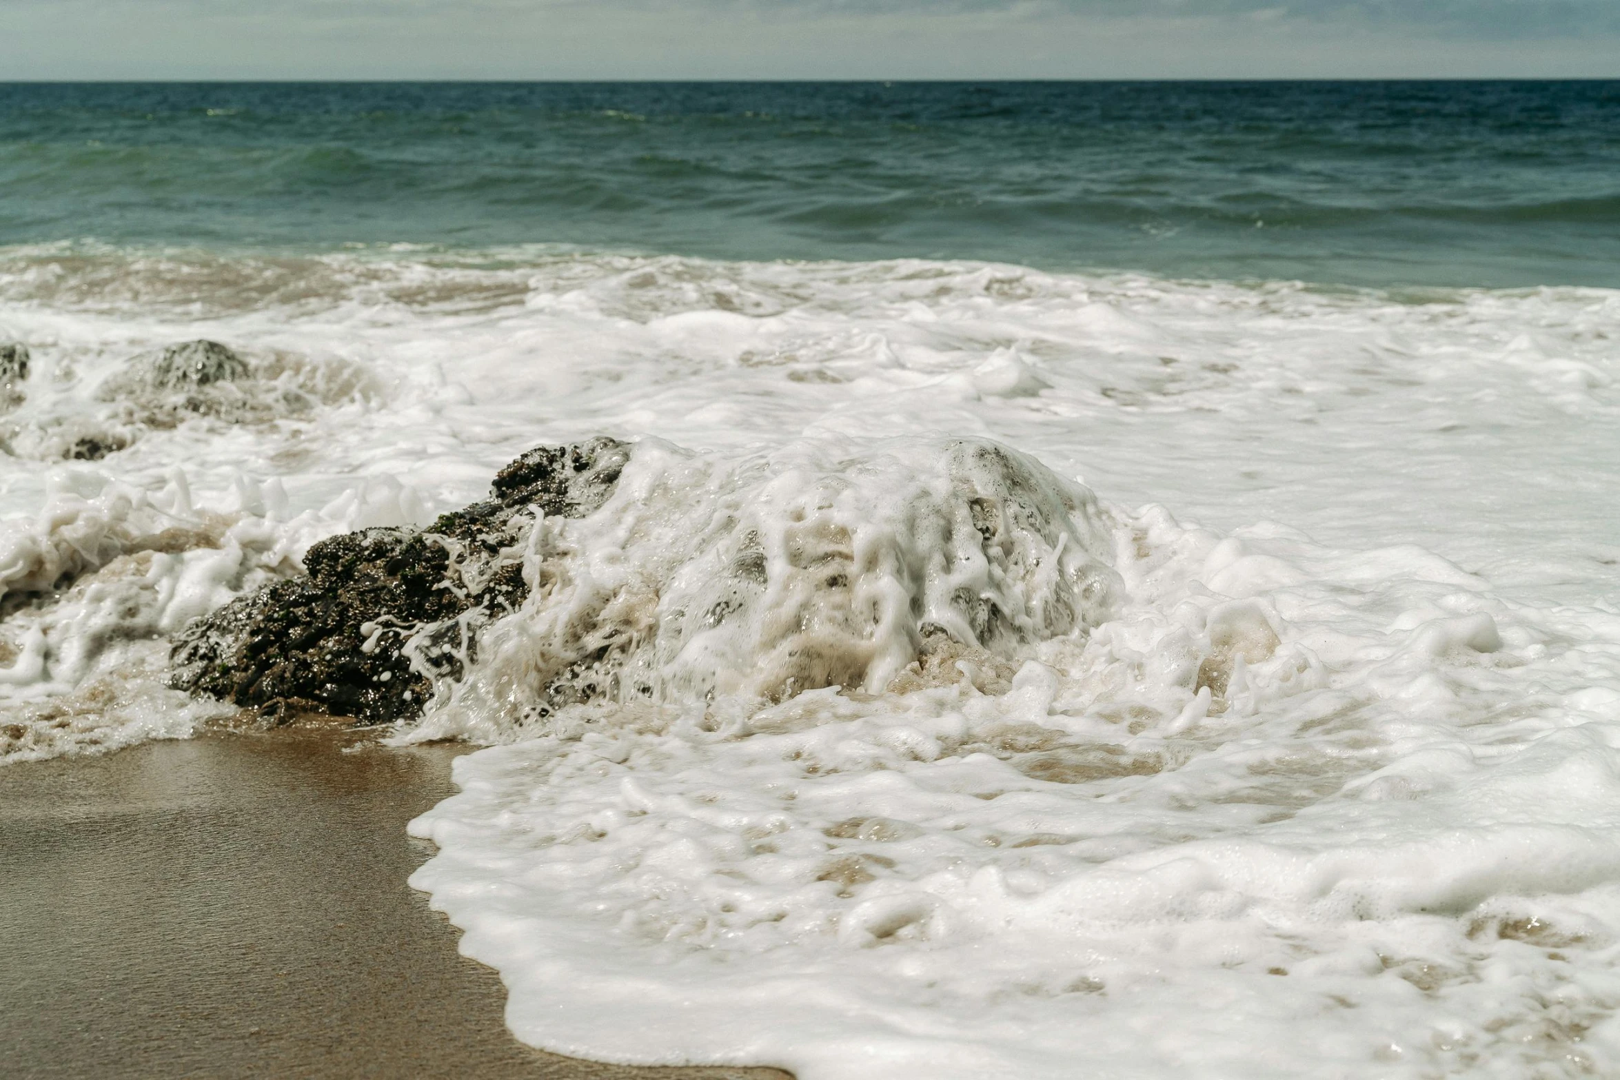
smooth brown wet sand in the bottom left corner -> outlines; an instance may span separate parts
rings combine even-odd
[[[405,878],[455,748],[303,729],[0,769],[6,1077],[789,1080],[543,1054]]]

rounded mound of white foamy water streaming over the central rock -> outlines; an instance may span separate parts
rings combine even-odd
[[[1014,656],[1108,619],[1092,492],[990,442],[643,442],[608,505],[530,534],[530,596],[411,738],[512,738],[569,703],[885,690],[928,641]]]

